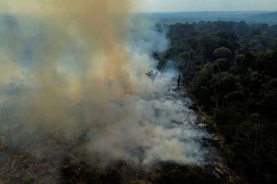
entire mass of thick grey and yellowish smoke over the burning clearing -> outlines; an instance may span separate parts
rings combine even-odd
[[[204,133],[194,124],[189,99],[173,90],[171,79],[178,71],[158,73],[154,82],[144,75],[157,71],[152,54],[169,49],[167,28],[126,26],[120,29],[128,36],[114,38],[122,33],[119,25],[106,25],[116,24],[110,14],[93,22],[103,25],[107,35],[101,28],[77,29],[87,17],[74,16],[1,15],[0,131],[14,135],[10,140],[3,136],[2,147],[11,141],[13,148],[25,146],[33,156],[37,147],[31,137],[63,135],[60,141],[70,145],[83,136],[83,154],[97,155],[99,165],[119,160],[142,166],[201,164]],[[61,28],[61,20],[68,27]]]

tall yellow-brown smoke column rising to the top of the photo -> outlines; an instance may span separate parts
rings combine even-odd
[[[42,30],[40,24],[31,24],[30,33],[28,30],[25,33],[32,36],[45,32],[47,35],[37,44],[28,69],[32,73],[29,77],[32,87],[35,85],[37,91],[25,98],[27,122],[68,125],[76,122],[70,108],[84,101],[98,107],[91,108],[87,113],[89,118],[100,118],[102,111],[110,112],[108,80],[113,81],[112,98],[121,98],[126,91],[132,91],[130,56],[125,49],[127,14],[134,10],[131,1],[7,0],[1,5],[1,12],[27,15],[47,25],[47,30]],[[68,67],[62,60],[65,53],[70,52],[66,48],[73,44],[81,44],[83,51],[75,56],[77,64]],[[74,67],[78,67],[78,71],[72,72]],[[20,69],[12,67],[12,72],[3,72],[3,76],[19,75]]]

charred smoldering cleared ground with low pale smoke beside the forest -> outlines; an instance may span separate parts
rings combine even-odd
[[[173,90],[175,84],[156,82],[164,90],[153,87],[149,93],[111,102],[114,123],[80,121],[70,134],[58,125],[30,131],[27,122],[13,114],[16,102],[10,104],[7,120],[1,123],[2,182],[155,183],[153,177],[161,168],[185,172],[179,167],[186,165],[188,170],[194,165],[208,172],[203,166],[211,161],[207,158],[211,148],[201,145],[208,134],[194,123],[196,116],[188,109],[191,101]],[[81,106],[76,110],[85,108]]]

